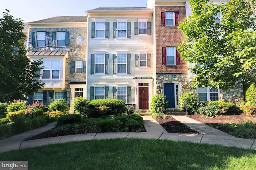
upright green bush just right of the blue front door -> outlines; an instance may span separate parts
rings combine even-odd
[[[194,114],[196,112],[197,99],[198,99],[198,94],[194,92],[183,93],[180,98],[182,110],[186,111],[187,109],[188,114]]]

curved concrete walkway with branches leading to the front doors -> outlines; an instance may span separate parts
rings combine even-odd
[[[228,135],[222,131],[204,125],[194,119],[186,116],[172,116],[174,119],[188,125],[190,128],[201,134],[181,134],[168,133],[156,120],[151,116],[142,116],[144,127],[147,132],[121,132],[121,133],[87,133],[79,135],[68,135],[59,137],[50,137],[45,139],[36,139],[31,141],[23,141],[28,137],[32,137],[43,131],[47,131],[55,127],[55,123],[51,123],[44,127],[24,132],[0,141],[0,152],[8,150],[18,150],[27,147],[37,147],[48,144],[65,143],[70,141],[85,141],[95,139],[114,139],[114,138],[143,138],[143,139],[167,139],[173,141],[189,141],[193,143],[219,144],[224,146],[235,146],[245,149],[256,150],[256,142],[254,139],[241,139]]]

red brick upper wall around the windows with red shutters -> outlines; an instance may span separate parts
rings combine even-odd
[[[164,66],[162,65],[162,47],[179,45],[181,37],[184,38],[182,32],[178,30],[178,26],[166,26],[161,23],[161,12],[178,11],[179,21],[183,21],[186,17],[184,6],[156,6],[156,73],[187,73],[187,62],[180,61],[180,65]]]

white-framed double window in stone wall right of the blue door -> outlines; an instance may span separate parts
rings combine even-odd
[[[198,88],[198,100],[199,102],[204,101],[217,101],[219,100],[219,90],[217,88]]]

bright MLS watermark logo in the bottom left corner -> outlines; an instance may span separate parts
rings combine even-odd
[[[0,161],[0,170],[28,170],[28,161]]]

